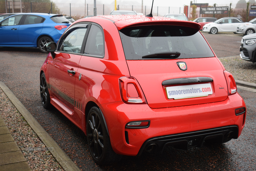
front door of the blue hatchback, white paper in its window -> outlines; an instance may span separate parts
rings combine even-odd
[[[3,20],[0,23],[0,45],[18,46],[18,31],[23,15],[16,15]]]

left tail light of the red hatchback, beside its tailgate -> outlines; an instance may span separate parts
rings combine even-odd
[[[128,104],[146,104],[145,96],[138,83],[133,77],[119,78],[119,87],[122,100]]]

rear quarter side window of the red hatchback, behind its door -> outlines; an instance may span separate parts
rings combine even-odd
[[[85,44],[84,53],[88,55],[104,56],[104,37],[102,29],[92,25]]]

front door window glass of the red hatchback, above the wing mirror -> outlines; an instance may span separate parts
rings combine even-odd
[[[75,27],[61,41],[60,51],[81,53],[87,27]]]

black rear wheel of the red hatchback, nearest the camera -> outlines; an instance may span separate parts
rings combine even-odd
[[[89,111],[86,133],[90,154],[98,165],[106,165],[121,159],[111,147],[102,112],[98,107],[92,107]]]

